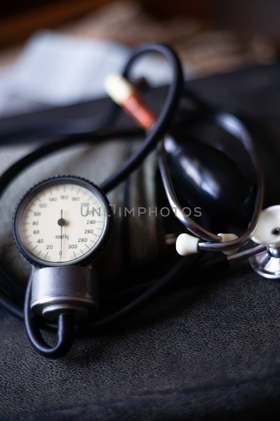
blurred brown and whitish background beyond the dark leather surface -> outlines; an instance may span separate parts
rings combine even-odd
[[[280,3],[264,0],[5,2],[0,18],[0,117],[105,95],[102,80],[139,43],[169,43],[186,79],[277,60]],[[169,75],[146,57],[135,75]]]

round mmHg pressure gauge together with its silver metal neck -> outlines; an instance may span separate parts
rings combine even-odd
[[[105,248],[113,216],[94,184],[57,176],[33,187],[13,218],[13,235],[33,265],[31,310],[49,319],[69,312],[85,319],[98,309],[92,261]]]

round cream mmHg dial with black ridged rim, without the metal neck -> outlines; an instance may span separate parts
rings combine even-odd
[[[112,223],[108,200],[97,186],[79,177],[57,176],[23,197],[13,218],[13,235],[35,266],[79,266],[104,248]]]

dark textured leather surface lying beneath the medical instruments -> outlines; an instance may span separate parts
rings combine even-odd
[[[256,135],[265,205],[279,203],[280,64],[188,83]],[[0,420],[272,419],[280,416],[280,284],[248,262],[190,279],[61,360],[0,311]],[[48,340],[53,336],[46,334]]]

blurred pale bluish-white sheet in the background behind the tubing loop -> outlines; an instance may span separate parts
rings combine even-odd
[[[130,53],[117,43],[38,32],[0,74],[0,116],[101,98],[104,78],[120,72]],[[161,57],[148,55],[139,59],[133,77],[160,86],[170,80],[170,69]]]

